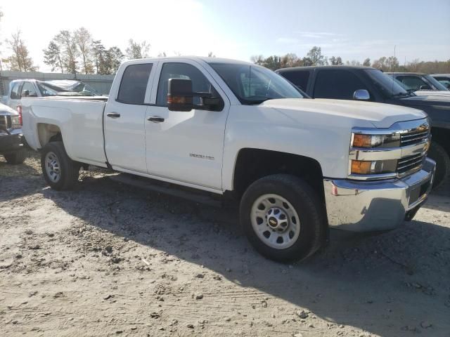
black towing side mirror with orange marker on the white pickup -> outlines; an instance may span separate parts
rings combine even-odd
[[[167,107],[170,111],[193,110],[192,81],[190,79],[169,79]]]

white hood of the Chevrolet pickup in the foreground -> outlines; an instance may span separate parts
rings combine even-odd
[[[336,117],[354,119],[355,121],[360,121],[360,123],[356,122],[355,126],[364,127],[365,125],[361,124],[367,124],[368,122],[375,128],[389,128],[397,121],[411,121],[427,117],[425,112],[409,107],[356,100],[284,98],[266,100],[262,103],[262,106],[276,110],[296,110],[299,114],[314,112],[324,122],[327,121],[327,117],[333,117],[333,119]]]

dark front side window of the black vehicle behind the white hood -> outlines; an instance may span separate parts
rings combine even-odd
[[[314,98],[352,100],[358,89],[368,88],[348,70],[319,70],[314,84]]]

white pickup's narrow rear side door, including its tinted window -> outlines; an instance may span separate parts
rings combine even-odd
[[[144,121],[154,70],[155,62],[141,62],[116,75],[120,87],[104,112],[105,152],[113,169],[147,173]]]

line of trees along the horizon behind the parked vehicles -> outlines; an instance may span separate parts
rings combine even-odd
[[[0,20],[2,16],[3,13],[0,11]],[[22,32],[18,30],[5,40],[11,55],[8,58],[1,59],[0,65],[6,64],[9,70],[20,72],[36,71],[38,67],[34,65],[21,34]],[[117,46],[105,48],[101,40],[94,39],[86,28],[80,27],[74,31],[61,30],[58,32],[51,39],[47,48],[44,49],[44,63],[51,67],[52,72],[115,74],[125,58],[147,58],[149,50],[150,44],[147,41],[134,41],[134,39],[129,39],[125,53],[122,53]],[[181,55],[176,52],[175,54]],[[165,56],[165,52],[158,55],[158,57]],[[208,57],[215,57],[215,55],[210,52]],[[250,60],[271,70],[311,65],[364,65],[384,72],[450,73],[450,59],[434,62],[416,59],[400,65],[397,57],[383,56],[373,61],[366,58],[363,62],[359,62],[359,60],[344,62],[340,56],[326,57],[322,54],[319,46],[311,48],[303,58],[298,57],[295,53],[287,53],[285,55],[271,55],[267,58],[264,58],[263,55],[253,55]]]

